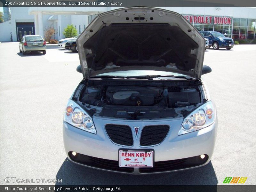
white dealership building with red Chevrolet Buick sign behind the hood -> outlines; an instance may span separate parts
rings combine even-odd
[[[63,31],[73,24],[77,33],[100,13],[117,7],[11,7],[0,23],[0,41],[19,41],[23,35],[41,35],[53,27],[52,38],[64,38]],[[252,7],[161,7],[178,12],[197,30],[218,31],[234,40],[256,39],[256,8]],[[4,16],[5,16],[4,14]]]

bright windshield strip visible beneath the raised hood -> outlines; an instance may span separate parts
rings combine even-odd
[[[117,72],[109,72],[109,73],[102,73],[97,76],[157,76],[157,75],[170,75],[170,76],[185,76],[191,78],[190,76],[179,74],[179,73],[172,73],[172,72],[165,72],[165,71],[152,71],[152,70],[130,70],[130,71],[117,71]]]

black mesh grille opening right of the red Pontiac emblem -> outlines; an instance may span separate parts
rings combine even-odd
[[[161,143],[169,132],[168,125],[149,125],[142,129],[140,146],[151,146]]]

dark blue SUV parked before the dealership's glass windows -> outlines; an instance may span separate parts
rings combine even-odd
[[[234,47],[233,39],[225,37],[217,31],[199,31],[205,38],[209,39],[209,48],[212,46],[213,49],[226,48],[230,50]]]

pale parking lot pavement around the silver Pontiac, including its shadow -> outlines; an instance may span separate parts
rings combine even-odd
[[[57,178],[66,185],[220,185],[225,177],[248,177],[245,184],[256,184],[256,45],[205,52],[204,64],[212,73],[203,79],[218,109],[211,162],[188,171],[137,176],[82,167],[66,158],[62,120],[82,78],[76,72],[78,54],[47,45],[46,55],[23,56],[18,44],[0,43],[1,185],[20,184],[6,183],[6,177]]]

